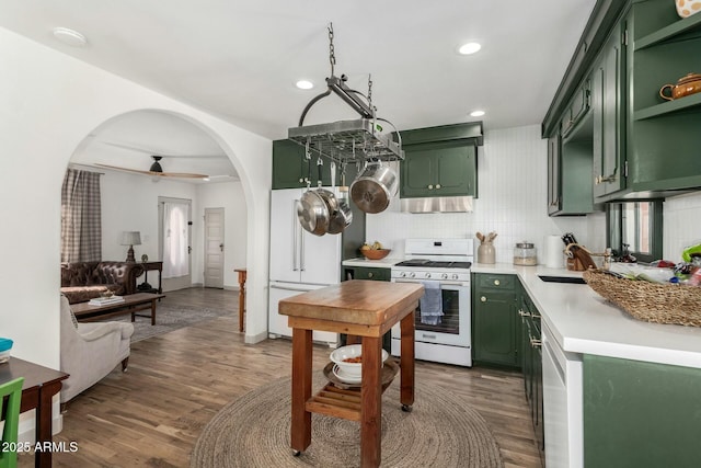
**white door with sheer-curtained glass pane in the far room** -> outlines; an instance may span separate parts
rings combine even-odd
[[[159,196],[158,206],[163,290],[192,287],[192,201]]]

